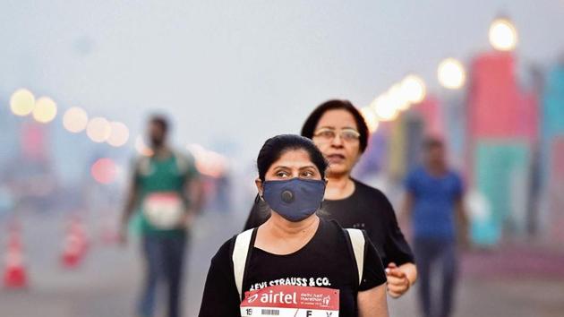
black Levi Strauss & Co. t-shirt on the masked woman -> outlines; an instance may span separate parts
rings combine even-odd
[[[366,238],[366,236],[365,236]],[[211,260],[201,302],[200,317],[241,316],[233,270],[235,237],[223,244]],[[363,278],[358,271],[346,232],[335,221],[320,220],[312,240],[302,249],[277,255],[252,247],[244,275],[243,291],[274,285],[327,287],[339,290],[339,316],[357,315],[358,291],[386,282],[386,274],[374,246],[366,240]]]

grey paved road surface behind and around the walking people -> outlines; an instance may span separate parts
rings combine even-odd
[[[198,220],[186,263],[185,316],[197,315],[209,259],[242,226],[242,218],[209,212]],[[134,316],[141,277],[138,244],[101,244],[95,219],[87,219],[93,237],[90,253],[80,268],[69,271],[58,263],[64,217],[21,218],[30,287],[0,291],[0,316]],[[5,235],[0,235],[0,254],[4,254],[4,245]],[[401,299],[390,299],[391,315],[418,316],[415,296],[412,291]],[[519,246],[466,254],[455,316],[564,316],[564,255]]]

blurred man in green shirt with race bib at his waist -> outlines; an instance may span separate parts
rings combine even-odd
[[[186,236],[192,218],[201,207],[201,184],[194,159],[167,146],[167,119],[153,116],[149,122],[150,156],[136,159],[132,186],[122,220],[122,241],[135,210],[141,213],[142,251],[146,261],[145,285],[138,307],[142,317],[154,313],[158,281],[168,287],[168,316],[180,313]]]

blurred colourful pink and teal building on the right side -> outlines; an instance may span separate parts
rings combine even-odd
[[[424,136],[440,136],[466,178],[474,244],[564,241],[564,66],[526,87],[516,56],[491,51],[474,56],[468,73],[466,93],[428,95],[380,123],[355,175],[370,182],[383,172],[401,184]]]

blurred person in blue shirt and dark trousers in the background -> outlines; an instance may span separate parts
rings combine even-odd
[[[452,312],[457,280],[457,236],[466,244],[463,210],[464,185],[448,167],[445,147],[439,138],[423,143],[423,165],[406,177],[404,217],[411,218],[414,255],[420,278],[419,297],[424,317],[447,317]],[[462,233],[457,233],[457,222]],[[432,270],[440,268],[442,289],[432,295]]]

